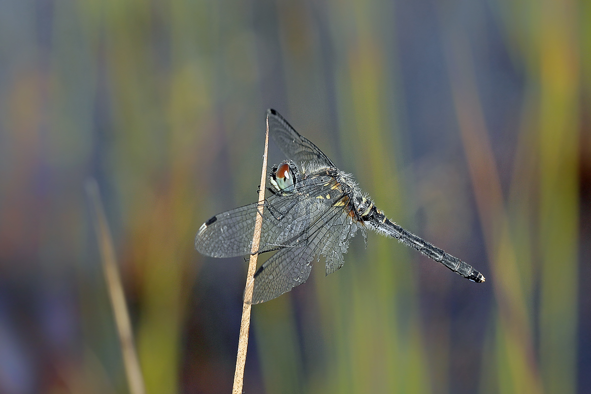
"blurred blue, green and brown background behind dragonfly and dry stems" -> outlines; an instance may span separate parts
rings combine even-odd
[[[230,392],[246,263],[193,239],[256,200],[267,108],[486,282],[358,237],[253,307],[245,393],[590,392],[590,21],[574,0],[3,0],[0,393],[128,392],[87,177],[147,392]]]

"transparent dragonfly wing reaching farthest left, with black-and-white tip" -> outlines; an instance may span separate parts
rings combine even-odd
[[[309,175],[296,184],[296,193],[274,194],[263,203],[217,214],[200,227],[195,248],[212,257],[248,255],[257,211],[262,211],[263,216],[259,253],[295,245],[306,236],[310,223],[340,197],[333,190],[335,183],[329,175]],[[314,204],[315,201],[322,203]]]

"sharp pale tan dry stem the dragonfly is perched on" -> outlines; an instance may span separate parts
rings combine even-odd
[[[265,133],[265,152],[262,155],[261,186],[259,190],[259,204],[265,201],[265,182],[267,181],[267,150],[269,147],[269,115],[267,115],[267,132]],[[258,261],[259,243],[261,242],[262,205],[256,214],[255,232],[252,235],[251,258],[248,261],[248,274],[246,275],[246,288],[244,302],[242,304],[242,323],[240,324],[240,337],[238,340],[238,356],[236,356],[236,371],[234,372],[234,385],[232,394],[241,394],[244,380],[244,364],[246,363],[246,348],[248,348],[248,331],[251,325],[251,301],[254,288],[254,275],[256,261]]]

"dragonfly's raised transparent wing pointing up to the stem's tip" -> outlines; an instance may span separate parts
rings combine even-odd
[[[303,161],[313,161],[327,167],[336,167],[316,145],[294,130],[279,112],[268,109],[267,115],[269,116],[269,135],[288,159],[298,165]]]

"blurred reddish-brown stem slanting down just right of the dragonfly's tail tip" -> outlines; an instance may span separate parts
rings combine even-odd
[[[541,393],[543,390],[535,363],[532,322],[528,316],[515,246],[509,232],[501,181],[480,105],[469,41],[465,35],[456,31],[450,34],[446,49],[460,138],[498,302],[498,330],[502,333],[498,333],[501,343],[496,345],[498,349],[506,348],[505,353],[502,353],[506,357],[499,360],[504,366],[499,370],[505,373],[506,379],[499,376],[499,382],[506,383],[502,389],[508,392]]]

